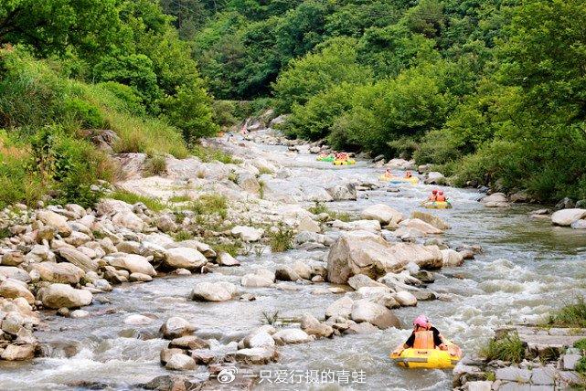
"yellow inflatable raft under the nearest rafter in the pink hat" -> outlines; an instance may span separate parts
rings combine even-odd
[[[390,354],[390,359],[405,368],[451,369],[462,359],[463,352],[451,341],[446,341],[446,344],[448,350],[409,348],[397,354],[400,351],[401,343]]]

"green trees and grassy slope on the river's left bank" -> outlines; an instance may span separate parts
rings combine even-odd
[[[172,16],[149,0],[16,0],[0,5],[0,207],[90,206],[113,153],[185,157],[218,132],[212,99]]]

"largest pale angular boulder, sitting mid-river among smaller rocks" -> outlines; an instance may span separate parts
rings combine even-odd
[[[421,268],[442,267],[442,253],[436,246],[412,243],[391,245],[367,231],[344,233],[336,240],[327,258],[327,277],[333,283],[346,283],[356,275],[377,279],[388,272],[399,272],[410,261]]]

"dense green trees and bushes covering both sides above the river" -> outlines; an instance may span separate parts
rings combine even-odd
[[[581,0],[9,0],[0,204],[109,179],[83,130],[182,156],[241,100],[455,185],[584,198],[585,25]]]

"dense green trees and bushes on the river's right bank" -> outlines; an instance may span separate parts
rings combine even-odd
[[[272,96],[292,137],[412,156],[458,185],[586,197],[580,0],[179,3],[212,93]]]

